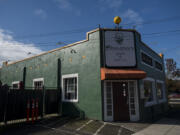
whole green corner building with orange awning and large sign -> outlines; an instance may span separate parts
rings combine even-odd
[[[146,120],[168,109],[163,57],[135,30],[95,29],[87,39],[0,69],[18,89],[62,88],[62,114],[104,121]]]

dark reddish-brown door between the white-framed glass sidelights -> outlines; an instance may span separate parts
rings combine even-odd
[[[129,117],[128,82],[113,82],[114,121],[127,121]]]

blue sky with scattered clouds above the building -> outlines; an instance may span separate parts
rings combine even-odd
[[[83,40],[98,24],[113,28],[118,15],[124,28],[135,25],[145,43],[180,66],[180,31],[168,32],[180,30],[179,5],[179,0],[0,0],[0,62]]]

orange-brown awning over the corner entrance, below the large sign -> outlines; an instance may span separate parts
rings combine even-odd
[[[101,68],[101,80],[105,79],[143,79],[146,72],[137,69]]]

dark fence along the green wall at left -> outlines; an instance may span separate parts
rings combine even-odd
[[[29,103],[29,116],[32,108],[38,105],[38,116],[60,113],[60,91],[57,89],[9,89],[8,86],[0,87],[0,122],[7,122],[27,117],[27,106]],[[33,104],[33,101],[35,104]]]

